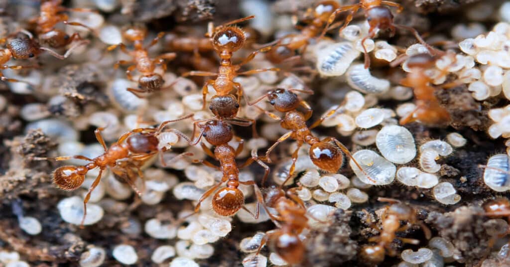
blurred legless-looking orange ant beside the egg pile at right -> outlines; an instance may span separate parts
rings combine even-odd
[[[415,120],[429,125],[444,124],[450,121],[450,114],[445,108],[440,106],[439,100],[434,94],[436,88],[430,85],[432,78],[425,73],[426,69],[434,66],[436,59],[436,57],[428,54],[419,54],[410,57],[407,61],[407,66],[411,68],[411,72],[407,74],[407,77],[400,84],[414,89],[416,109],[400,119],[401,125],[414,122]],[[455,83],[447,84],[443,87],[447,88],[453,85]]]

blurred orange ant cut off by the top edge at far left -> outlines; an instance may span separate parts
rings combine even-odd
[[[72,43],[74,40],[83,41],[78,33],[73,33],[69,36],[62,30],[56,29],[55,26],[60,22],[66,25],[81,26],[94,32],[93,29],[82,23],[67,21],[69,17],[62,13],[64,11],[97,13],[95,10],[86,8],[65,8],[62,6],[62,0],[48,0],[43,2],[41,4],[39,16],[30,20],[30,23],[36,25],[35,32],[41,43],[47,44],[53,48],[61,48]]]

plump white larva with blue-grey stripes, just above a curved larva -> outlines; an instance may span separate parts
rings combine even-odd
[[[317,70],[321,76],[341,76],[352,61],[360,56],[351,43],[340,42],[328,44],[316,50]]]

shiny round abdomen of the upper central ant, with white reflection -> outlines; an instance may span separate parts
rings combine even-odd
[[[213,46],[216,51],[235,52],[243,47],[246,36],[240,28],[223,27],[213,36]]]

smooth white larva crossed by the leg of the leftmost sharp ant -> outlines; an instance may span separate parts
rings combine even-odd
[[[83,219],[83,199],[80,197],[70,197],[62,199],[57,208],[59,209],[60,216],[62,220],[67,223],[80,225]],[[103,214],[105,211],[99,205],[95,204],[87,204],[87,216],[85,217],[85,221],[83,225],[92,225],[101,218],[103,218]]]

